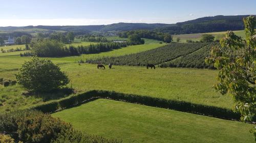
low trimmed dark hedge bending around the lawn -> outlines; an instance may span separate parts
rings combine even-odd
[[[97,98],[105,98],[105,99],[112,99],[112,100],[118,100],[118,101],[130,102],[130,103],[143,104],[143,105],[153,106],[153,107],[174,109],[178,111],[196,113],[199,115],[211,116],[211,117],[227,119],[227,120],[238,121],[240,120],[240,117],[241,117],[240,113],[234,112],[231,109],[222,108],[222,107],[202,105],[202,104],[196,104],[196,103],[191,103],[186,101],[156,98],[156,97],[150,97],[150,96],[141,96],[141,95],[135,95],[135,94],[123,94],[123,93],[117,93],[114,91],[102,91],[102,90],[100,91],[93,90],[83,94],[73,95],[55,102],[48,102],[45,104],[37,105],[32,108],[41,110],[42,112],[51,113],[59,109],[73,107],[73,106],[82,104],[83,102],[90,101],[92,99],[97,99]],[[256,118],[254,118],[253,121],[256,121],[255,119]]]

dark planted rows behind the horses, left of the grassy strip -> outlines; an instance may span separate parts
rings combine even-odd
[[[207,43],[172,43],[163,47],[152,50],[147,50],[139,53],[105,57],[101,59],[87,60],[87,63],[93,64],[109,64],[113,65],[128,65],[128,66],[145,66],[147,64],[161,64],[180,56],[194,52],[207,45]]]

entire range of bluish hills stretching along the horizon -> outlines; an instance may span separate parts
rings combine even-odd
[[[82,26],[8,26],[0,27],[0,31],[18,32],[24,29],[39,28],[49,31],[74,31],[76,35],[90,32],[121,32],[131,30],[153,30],[169,34],[193,34],[193,33],[209,33],[221,31],[237,31],[243,30],[243,18],[249,15],[237,16],[211,16],[202,17],[195,20],[178,22],[176,24],[147,24],[147,23],[114,23],[109,25],[82,25]]]

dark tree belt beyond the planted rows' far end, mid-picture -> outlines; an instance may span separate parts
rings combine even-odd
[[[125,31],[118,33],[121,38],[129,38],[132,35],[137,35],[140,38],[154,39],[170,43],[173,39],[172,36],[166,33],[154,32],[150,30],[136,30],[136,31]]]

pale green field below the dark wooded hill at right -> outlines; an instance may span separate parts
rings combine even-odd
[[[245,37],[244,31],[233,31],[233,32],[238,36]],[[223,37],[226,34],[226,32],[173,35],[173,40],[174,42],[176,42],[176,39],[179,37],[180,42],[186,42],[186,40],[200,41],[203,34],[212,34],[215,36],[216,39],[220,40],[220,38]]]

